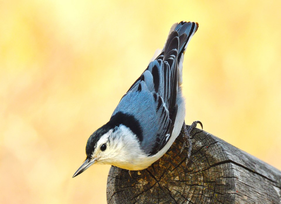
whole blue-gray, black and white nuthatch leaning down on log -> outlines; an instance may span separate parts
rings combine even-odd
[[[190,157],[190,131],[202,123],[194,121],[186,129],[181,84],[184,53],[198,26],[185,21],[172,25],[163,49],[155,51],[148,67],[121,98],[110,120],[89,137],[86,160],[73,177],[94,163],[129,172],[146,169],[167,152],[181,130],[185,139],[182,150],[189,146]]]

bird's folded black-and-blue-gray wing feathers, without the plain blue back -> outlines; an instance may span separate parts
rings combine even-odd
[[[165,146],[174,128],[177,115],[178,50],[179,34],[174,31],[170,33],[162,53],[149,63],[147,69],[123,96],[124,98],[127,94],[131,95],[132,92],[142,91],[149,91],[153,94],[156,114],[153,125],[157,128],[153,135],[144,135],[143,139],[143,145],[148,145],[143,146],[143,149],[149,155],[154,155]]]

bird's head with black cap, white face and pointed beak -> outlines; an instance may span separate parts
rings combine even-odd
[[[139,139],[129,125],[114,121],[114,117],[97,129],[88,139],[86,145],[87,158],[73,177],[84,172],[94,163],[110,164],[125,167],[133,162],[140,150]],[[124,165],[124,166],[123,166]]]

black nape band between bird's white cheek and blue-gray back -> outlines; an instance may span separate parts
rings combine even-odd
[[[130,128],[131,131],[136,134],[139,141],[143,141],[143,131],[141,130],[140,123],[138,120],[130,114],[117,112],[115,115],[113,115],[109,122],[105,125],[109,127],[116,127],[119,125],[125,125],[126,127]]]

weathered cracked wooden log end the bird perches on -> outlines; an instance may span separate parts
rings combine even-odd
[[[192,163],[185,167],[180,135],[148,169],[111,167],[107,203],[280,203],[281,172],[199,129],[191,132]]]

